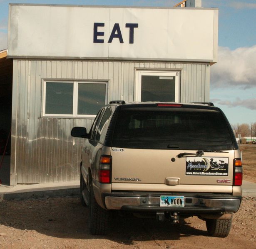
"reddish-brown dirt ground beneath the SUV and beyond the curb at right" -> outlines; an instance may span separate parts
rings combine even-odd
[[[251,181],[256,179],[253,146],[240,146],[244,178]],[[88,208],[78,197],[4,200],[0,202],[0,249],[255,249],[256,198],[243,198],[226,238],[209,237],[205,222],[197,217],[181,220],[178,225],[117,217],[106,236],[90,235],[87,224]]]

